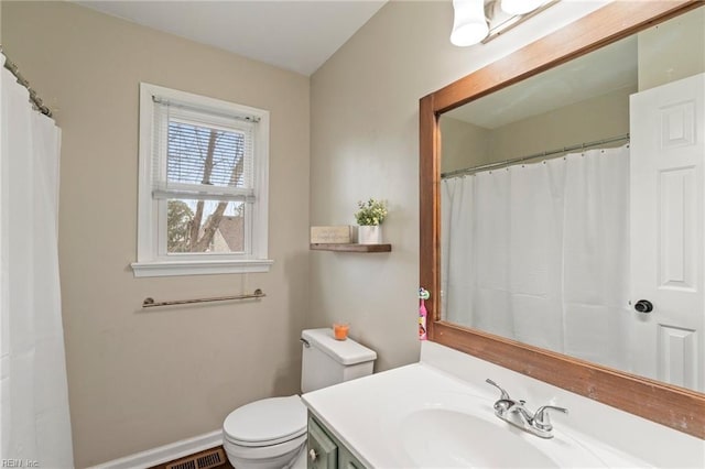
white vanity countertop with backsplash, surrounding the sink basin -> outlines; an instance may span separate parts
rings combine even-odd
[[[478,360],[474,357],[465,356],[464,353],[457,356],[459,352],[435,343],[431,343],[429,348],[433,349],[429,356],[433,356],[434,360],[441,358],[443,366],[436,367],[436,363],[421,361],[313,391],[304,394],[302,399],[310,411],[366,467],[370,469],[392,469],[409,468],[412,466],[410,465],[408,456],[401,449],[403,445],[400,445],[398,441],[400,438],[398,435],[400,421],[395,419],[395,416],[401,415],[404,410],[414,406],[417,408],[435,406],[451,396],[451,401],[467,403],[464,404],[466,407],[464,412],[470,412],[485,419],[494,418],[498,425],[505,425],[503,422],[495,417],[492,410],[492,404],[499,394],[496,389],[485,383],[485,379],[495,379],[500,385],[503,385],[514,399],[523,399],[524,395],[522,395],[522,393],[529,391],[528,388],[512,391],[518,388],[518,383],[511,382],[507,373],[513,372],[509,370],[488,370],[486,367],[495,366],[485,364],[486,362],[480,364],[479,368],[474,369],[474,361]],[[446,353],[449,357],[448,361],[444,359]],[[448,370],[448,363],[453,363],[453,367],[460,366],[463,368],[460,373]],[[442,370],[442,368],[444,370]],[[520,377],[519,379],[522,378]],[[523,377],[523,379],[531,380],[525,377]],[[506,381],[502,380],[510,381],[510,383],[506,384]],[[531,385],[535,384],[532,383]],[[549,385],[546,384],[546,386]],[[660,455],[663,455],[664,451],[670,452],[671,448],[677,448],[677,454],[674,452],[672,457],[669,455],[664,456],[669,461],[669,463],[664,465],[662,463],[662,459],[649,461],[648,458],[642,458],[642,455],[639,452],[633,450],[628,451],[628,449],[633,448],[619,448],[607,445],[605,441],[598,439],[599,437],[604,437],[604,435],[600,434],[596,437],[596,435],[589,434],[589,427],[595,426],[595,422],[589,423],[587,430],[581,429],[582,427],[579,425],[573,426],[572,424],[576,424],[581,419],[603,419],[603,413],[606,413],[605,415],[609,415],[607,425],[610,425],[611,428],[608,428],[605,435],[609,435],[609,432],[615,432],[611,414],[623,413],[597,404],[594,401],[584,404],[582,401],[576,401],[576,399],[584,401],[589,400],[576,395],[571,396],[565,394],[567,391],[551,388],[552,389],[549,390],[553,393],[551,399],[549,399],[547,395],[540,397],[535,395],[528,396],[528,405],[532,410],[535,410],[539,405],[549,403],[555,405],[564,404],[571,408],[570,416],[556,415],[554,422],[555,439],[544,440],[525,433],[527,441],[546,449],[546,452],[555,452],[556,441],[560,446],[561,440],[563,440],[577,443],[577,446],[587,449],[607,467],[703,467],[701,462],[703,462],[703,458],[705,458],[703,454],[705,445],[703,445],[702,440],[696,439],[695,441],[691,441],[688,438],[692,437],[685,436],[686,440],[683,441],[684,437],[681,436],[682,434],[673,430],[668,430],[664,434],[663,429],[657,429],[657,433],[652,437],[649,435],[651,426],[641,427],[641,423],[637,422],[638,426],[632,428],[634,423],[631,422],[633,421],[633,416],[630,415],[626,417],[627,423],[625,424],[623,430],[633,432],[632,439],[641,439],[639,448],[643,448],[644,455],[649,456],[650,449],[648,447],[653,445],[660,447]],[[600,408],[598,415],[596,415],[595,405],[606,408]],[[573,412],[574,407],[577,407],[575,408],[576,412]],[[622,416],[617,415],[615,418],[617,418],[615,422],[621,423],[619,418],[622,418]],[[524,433],[521,432],[520,434],[524,435]],[[664,436],[668,440],[664,440]],[[651,441],[652,438],[654,439],[653,441]],[[655,440],[655,438],[659,440]],[[468,444],[471,443],[473,441],[468,441]],[[481,445],[482,443],[479,441],[478,444]],[[552,447],[550,445],[554,446]],[[683,450],[685,450],[685,454]],[[571,461],[568,465],[560,462],[558,466],[583,467],[579,460],[577,462]]]

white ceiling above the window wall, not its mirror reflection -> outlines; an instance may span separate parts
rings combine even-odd
[[[311,76],[387,0],[76,1],[104,13]]]

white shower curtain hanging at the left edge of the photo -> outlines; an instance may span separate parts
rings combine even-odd
[[[56,232],[61,131],[0,72],[0,457],[14,467],[70,468]]]

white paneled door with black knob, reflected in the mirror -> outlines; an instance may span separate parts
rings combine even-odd
[[[705,391],[705,74],[630,101],[633,372]],[[649,309],[649,302],[653,309]],[[643,313],[637,309],[643,310]]]

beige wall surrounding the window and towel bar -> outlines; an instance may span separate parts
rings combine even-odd
[[[220,428],[299,391],[310,80],[73,3],[2,2],[2,43],[63,132],[59,263],[77,467]],[[270,273],[134,279],[140,81],[271,111]],[[142,310],[148,296],[258,302]]]

